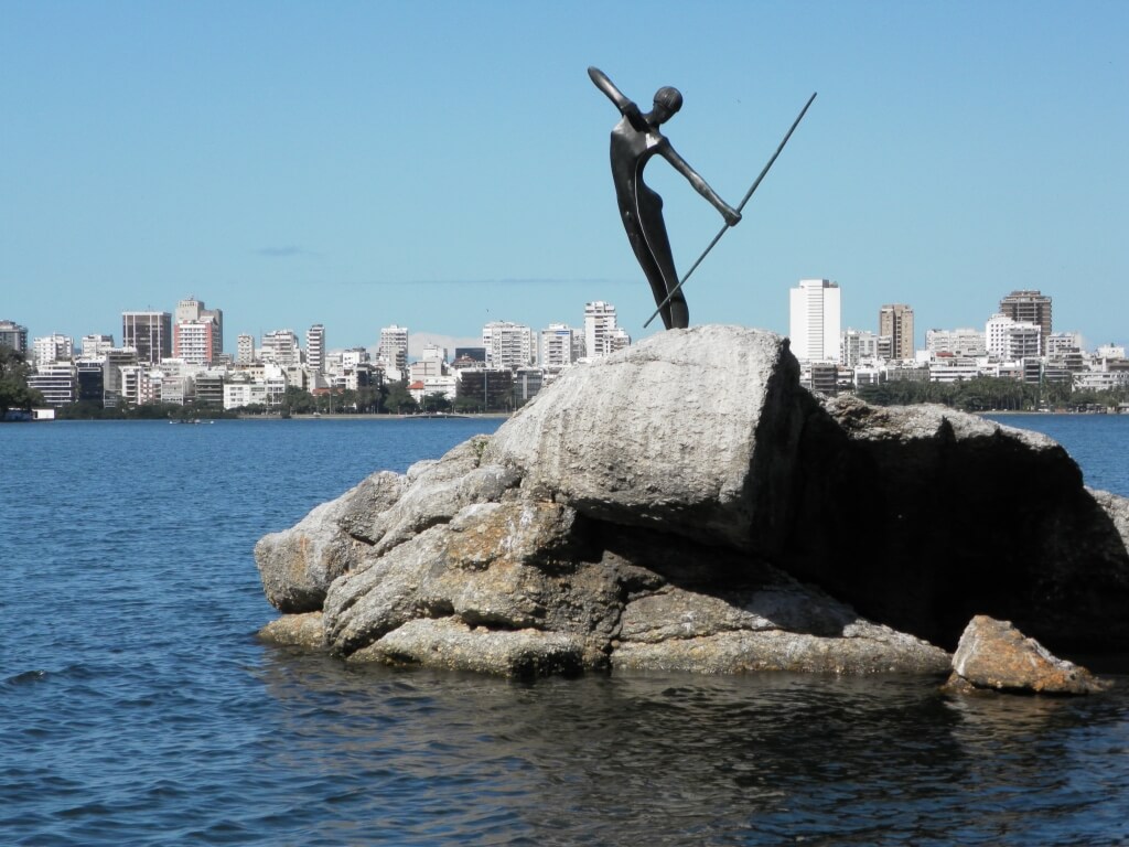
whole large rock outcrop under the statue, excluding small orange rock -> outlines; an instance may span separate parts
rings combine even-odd
[[[567,372],[255,558],[287,613],[263,637],[350,662],[942,674],[979,612],[1124,649],[1127,515],[1050,439],[820,400],[787,340],[699,326]]]

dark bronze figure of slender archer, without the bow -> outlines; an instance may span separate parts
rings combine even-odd
[[[627,229],[636,259],[639,260],[647,281],[650,282],[655,304],[663,315],[663,324],[668,330],[684,329],[690,324],[690,312],[674,271],[671,242],[666,236],[666,225],[663,222],[663,198],[644,183],[642,169],[653,156],[662,156],[675,171],[686,177],[699,194],[710,201],[725,218],[727,226],[736,226],[741,220],[741,211],[721,200],[659,132],[658,128],[682,107],[682,95],[676,88],[659,88],[655,93],[655,105],[651,111],[641,114],[639,107],[628,99],[603,71],[588,68],[588,76],[596,84],[596,88],[607,95],[623,115],[612,130],[611,151],[612,180],[615,182],[615,199],[619,202],[623,228]]]

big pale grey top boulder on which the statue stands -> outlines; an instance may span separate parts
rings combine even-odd
[[[484,461],[592,517],[772,552],[807,396],[779,335],[665,332],[564,373]]]

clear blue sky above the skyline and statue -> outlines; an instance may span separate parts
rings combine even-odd
[[[475,338],[583,325],[649,288],[619,222],[603,69],[679,87],[675,149],[736,204],[691,322],[788,331],[788,289],[843,326],[908,303],[983,326],[1016,288],[1054,329],[1129,343],[1129,3],[0,3],[0,318],[112,333],[194,295],[235,335],[323,323]],[[720,216],[666,163],[680,271]]]

